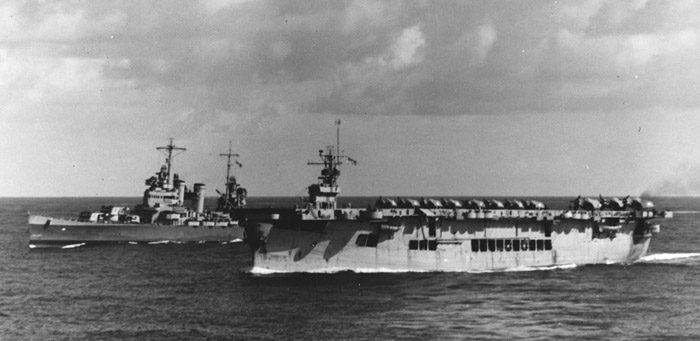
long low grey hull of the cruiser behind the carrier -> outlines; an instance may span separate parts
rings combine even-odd
[[[92,223],[29,217],[30,247],[109,243],[224,243],[243,239],[238,225],[188,226],[128,223]]]

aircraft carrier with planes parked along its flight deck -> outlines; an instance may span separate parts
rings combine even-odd
[[[319,151],[321,176],[301,207],[243,209],[253,272],[500,271],[631,263],[660,232],[642,198],[582,198],[569,209],[533,200],[380,198],[339,207],[337,143]]]

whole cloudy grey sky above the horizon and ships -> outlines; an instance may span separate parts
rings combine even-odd
[[[0,196],[700,195],[700,4],[3,1]]]

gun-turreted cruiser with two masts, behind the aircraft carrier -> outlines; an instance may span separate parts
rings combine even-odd
[[[103,243],[184,243],[231,242],[242,240],[243,228],[225,212],[245,205],[247,192],[230,176],[232,154],[229,146],[226,191],[215,211],[204,209],[206,186],[186,182],[173,173],[173,158],[186,149],[170,139],[157,147],[166,155],[165,165],[146,179],[142,203],[128,207],[102,206],[99,211],[83,211],[77,219],[29,214],[29,246],[71,247]],[[237,161],[236,161],[237,162]],[[233,183],[232,183],[233,181]],[[233,192],[231,192],[233,190]]]

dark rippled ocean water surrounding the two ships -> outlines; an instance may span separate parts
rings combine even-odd
[[[700,339],[700,198],[655,199],[674,219],[625,265],[259,275],[243,243],[28,247],[27,211],[138,201],[0,199],[0,340]]]

